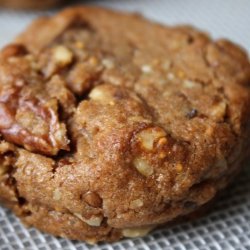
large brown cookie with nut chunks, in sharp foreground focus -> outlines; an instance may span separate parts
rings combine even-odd
[[[145,235],[210,201],[247,155],[250,64],[229,41],[74,8],[0,57],[0,199],[45,232]]]

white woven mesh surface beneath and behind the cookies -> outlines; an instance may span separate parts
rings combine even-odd
[[[166,24],[192,24],[208,31],[214,38],[229,38],[250,51],[249,0],[89,0],[77,4],[83,3],[140,12]],[[11,41],[36,16],[55,11],[1,10],[0,46]],[[90,246],[55,238],[34,228],[27,229],[9,210],[0,207],[0,250],[14,249],[250,250],[250,164],[246,164],[244,172],[208,215],[193,222],[158,229],[143,238],[114,244]]]

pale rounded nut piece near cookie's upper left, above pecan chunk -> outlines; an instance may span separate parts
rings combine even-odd
[[[53,59],[60,66],[66,66],[73,60],[72,52],[65,46],[57,46],[53,50]]]

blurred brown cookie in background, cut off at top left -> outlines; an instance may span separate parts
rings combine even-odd
[[[0,6],[14,9],[45,9],[63,0],[0,0]]]

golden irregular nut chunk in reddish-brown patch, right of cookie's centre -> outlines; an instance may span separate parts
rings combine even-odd
[[[166,136],[166,133],[161,128],[147,128],[137,134],[143,148],[147,150],[152,150],[154,143],[164,136]]]

